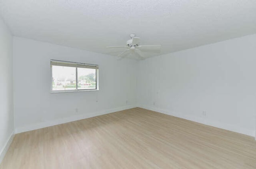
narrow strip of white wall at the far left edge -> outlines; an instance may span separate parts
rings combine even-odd
[[[0,18],[0,163],[14,130],[12,97],[12,34]]]

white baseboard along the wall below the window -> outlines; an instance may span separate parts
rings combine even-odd
[[[71,122],[71,121],[77,121],[77,120],[81,120],[81,119],[95,117],[95,116],[98,116],[98,115],[104,115],[104,114],[113,113],[113,112],[116,112],[116,111],[122,111],[122,110],[125,110],[125,109],[131,109],[131,108],[134,108],[134,107],[137,107],[137,106],[128,105],[128,106],[124,106],[124,107],[117,107],[117,108],[114,108],[114,109],[107,109],[107,110],[102,110],[102,111],[98,111],[98,112],[84,113],[84,114],[80,114],[80,115],[74,115],[74,116],[71,116],[71,117],[64,117],[64,118],[55,119],[55,120],[52,120],[52,121],[43,121],[43,122],[40,122],[40,123],[34,123],[34,124],[22,126],[22,127],[16,127],[15,133],[23,133],[25,131],[41,129],[41,128],[44,128],[44,127],[50,127],[50,126],[53,126],[53,125],[68,123],[68,122]]]

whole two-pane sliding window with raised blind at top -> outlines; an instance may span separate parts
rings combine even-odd
[[[50,60],[51,92],[98,90],[98,65]]]

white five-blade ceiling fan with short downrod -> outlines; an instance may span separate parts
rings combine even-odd
[[[122,53],[118,55],[118,59],[122,59],[130,53],[136,53],[140,59],[146,59],[146,56],[142,53],[142,50],[159,50],[161,45],[140,45],[140,38],[135,34],[130,34],[129,40],[126,42],[126,46],[109,46],[106,48],[126,48]]]

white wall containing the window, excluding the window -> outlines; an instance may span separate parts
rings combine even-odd
[[[98,64],[100,91],[50,93],[50,59]],[[137,64],[135,60],[118,61],[114,56],[14,37],[16,132],[134,107]]]

